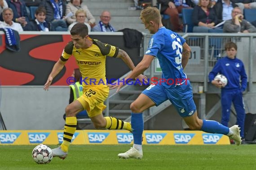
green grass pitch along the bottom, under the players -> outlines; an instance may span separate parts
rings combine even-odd
[[[38,165],[34,145],[0,145],[0,170],[256,170],[256,145],[143,145],[141,160],[117,157],[131,146],[71,145],[65,160]]]

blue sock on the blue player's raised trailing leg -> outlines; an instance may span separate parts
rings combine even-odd
[[[201,128],[201,131],[207,133],[219,133],[227,135],[230,132],[230,129],[214,120],[203,120],[203,126]]]

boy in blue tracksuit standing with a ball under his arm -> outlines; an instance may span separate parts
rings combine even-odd
[[[237,114],[236,124],[241,127],[240,136],[243,138],[245,110],[242,93],[247,86],[247,75],[243,62],[236,58],[237,45],[233,42],[226,43],[225,51],[227,56],[218,60],[212,71],[209,73],[208,78],[213,85],[221,88],[221,124],[228,126],[230,120],[231,102],[233,102]],[[214,80],[217,73],[223,74],[227,77],[228,84],[225,87],[218,80]],[[242,81],[241,85],[240,80]]]

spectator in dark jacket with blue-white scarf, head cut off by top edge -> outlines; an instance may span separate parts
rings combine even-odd
[[[50,22],[53,31],[67,31],[65,20],[65,0],[43,0],[40,6],[46,9],[46,22]]]

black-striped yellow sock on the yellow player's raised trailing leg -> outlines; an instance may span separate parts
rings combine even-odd
[[[126,129],[128,131],[132,130],[131,123],[124,122],[122,120],[116,119],[114,117],[105,117],[107,129]]]

